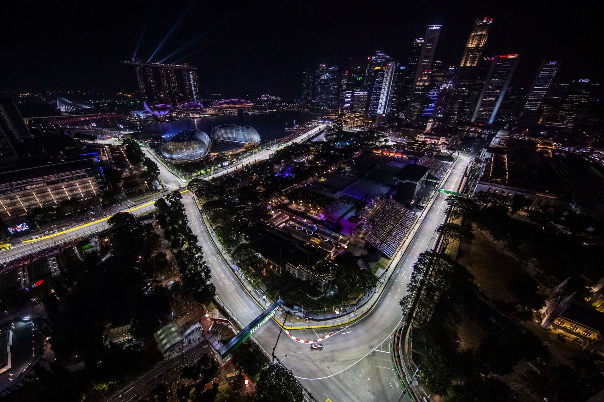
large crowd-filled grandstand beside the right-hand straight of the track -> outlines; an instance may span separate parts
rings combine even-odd
[[[363,222],[365,241],[388,258],[405,240],[417,216],[393,199],[376,199],[365,206],[359,217]]]

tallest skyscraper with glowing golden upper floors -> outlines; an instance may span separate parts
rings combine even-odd
[[[493,19],[489,17],[477,18],[474,21],[474,27],[467,38],[466,47],[463,49],[461,62],[457,69],[448,111],[449,121],[467,120],[472,113],[475,106],[475,99],[471,96],[472,87],[480,88],[481,85],[476,80],[492,23]]]

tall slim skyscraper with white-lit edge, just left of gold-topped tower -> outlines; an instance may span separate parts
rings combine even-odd
[[[422,53],[417,63],[413,84],[411,87],[411,97],[407,107],[406,119],[415,121],[421,115],[424,107],[429,104],[427,99],[430,85],[430,74],[432,72],[432,62],[436,45],[439,43],[440,28],[442,25],[428,25],[426,37],[422,46]]]

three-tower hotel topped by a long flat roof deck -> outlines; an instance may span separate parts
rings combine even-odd
[[[137,72],[141,101],[178,105],[200,100],[196,67],[138,61],[124,63],[134,66]]]

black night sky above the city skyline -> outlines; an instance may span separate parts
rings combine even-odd
[[[601,81],[596,7],[491,3],[10,2],[0,27],[0,90],[135,91],[133,69],[121,61],[132,59],[140,39],[137,57],[148,59],[174,27],[152,61],[190,42],[165,62],[184,57],[198,66],[201,91],[289,99],[300,95],[302,69],[345,68],[375,49],[403,59],[428,24],[443,25],[436,59],[457,64],[474,19],[484,16],[493,18],[486,54],[521,54],[515,85],[529,85],[544,57],[564,61],[562,80]]]

